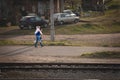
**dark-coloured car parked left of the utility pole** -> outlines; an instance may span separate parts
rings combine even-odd
[[[48,27],[48,21],[38,16],[24,16],[20,19],[19,22],[20,29],[24,28],[32,29],[38,25],[41,27]]]

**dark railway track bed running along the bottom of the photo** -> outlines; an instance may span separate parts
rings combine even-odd
[[[116,63],[0,63],[0,80],[120,80],[119,74]]]

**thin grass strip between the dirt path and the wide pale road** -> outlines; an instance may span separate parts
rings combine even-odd
[[[118,43],[92,42],[92,41],[43,41],[44,46],[101,46],[101,47],[120,47]],[[31,40],[0,40],[0,46],[5,45],[29,45],[33,46],[34,41]]]

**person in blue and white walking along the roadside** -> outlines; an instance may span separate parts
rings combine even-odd
[[[41,29],[40,29],[40,26],[36,26],[36,30],[35,30],[36,40],[35,40],[35,44],[34,44],[35,47],[38,46],[38,42],[40,42],[40,46],[43,47],[42,35],[43,35],[43,33],[42,33]]]

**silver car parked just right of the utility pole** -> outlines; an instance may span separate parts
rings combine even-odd
[[[78,23],[80,18],[78,16],[72,16],[67,13],[55,13],[54,14],[55,24],[64,24],[64,23]]]

